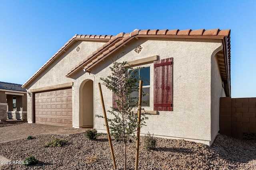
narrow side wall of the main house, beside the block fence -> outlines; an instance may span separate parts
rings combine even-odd
[[[211,143],[214,141],[220,130],[220,97],[226,97],[222,87],[217,56],[215,55],[220,49],[214,51],[211,57]]]

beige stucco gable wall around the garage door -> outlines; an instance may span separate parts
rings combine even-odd
[[[70,71],[74,66],[83,61],[91,53],[96,51],[101,47],[104,42],[95,42],[95,41],[77,41],[71,45],[66,52],[62,53],[56,61],[54,61],[48,68],[44,70],[32,83],[29,84],[26,89],[28,92],[32,89],[43,88],[47,86],[56,86],[59,84],[64,84],[72,82],[71,78],[67,78],[65,74]],[[77,52],[76,47],[79,46],[80,50]],[[50,58],[50,57],[49,57]],[[73,95],[74,96],[74,95]],[[33,111],[33,93],[31,96],[28,96],[28,123],[32,123],[32,111]],[[75,100],[77,102],[77,100]],[[73,106],[74,106],[74,97],[73,97]],[[74,112],[73,113],[79,113]],[[76,115],[72,115],[73,119]],[[76,124],[76,123],[74,123]]]

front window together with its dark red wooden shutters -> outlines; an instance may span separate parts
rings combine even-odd
[[[142,106],[154,111],[173,111],[173,58],[167,58],[154,61],[151,66],[153,74],[150,75],[150,66],[145,66],[138,70],[140,77],[144,80],[142,90],[144,94],[149,94],[142,97]],[[151,80],[154,83],[150,84]],[[154,84],[154,86],[153,86]],[[133,92],[130,96],[138,97],[138,92]],[[150,99],[151,98],[151,99]],[[117,96],[112,93],[112,106],[117,107]]]

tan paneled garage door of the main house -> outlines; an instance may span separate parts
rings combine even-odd
[[[35,123],[72,126],[72,88],[34,93]]]

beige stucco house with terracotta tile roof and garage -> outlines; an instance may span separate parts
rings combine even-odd
[[[117,58],[118,57],[118,58]],[[230,30],[138,30],[116,36],[75,35],[25,84],[28,123],[94,127],[106,132],[98,82],[112,60],[143,66],[152,115],[141,133],[211,145],[220,97],[230,96]],[[106,110],[112,92],[102,86]],[[108,116],[110,116],[108,114]]]

